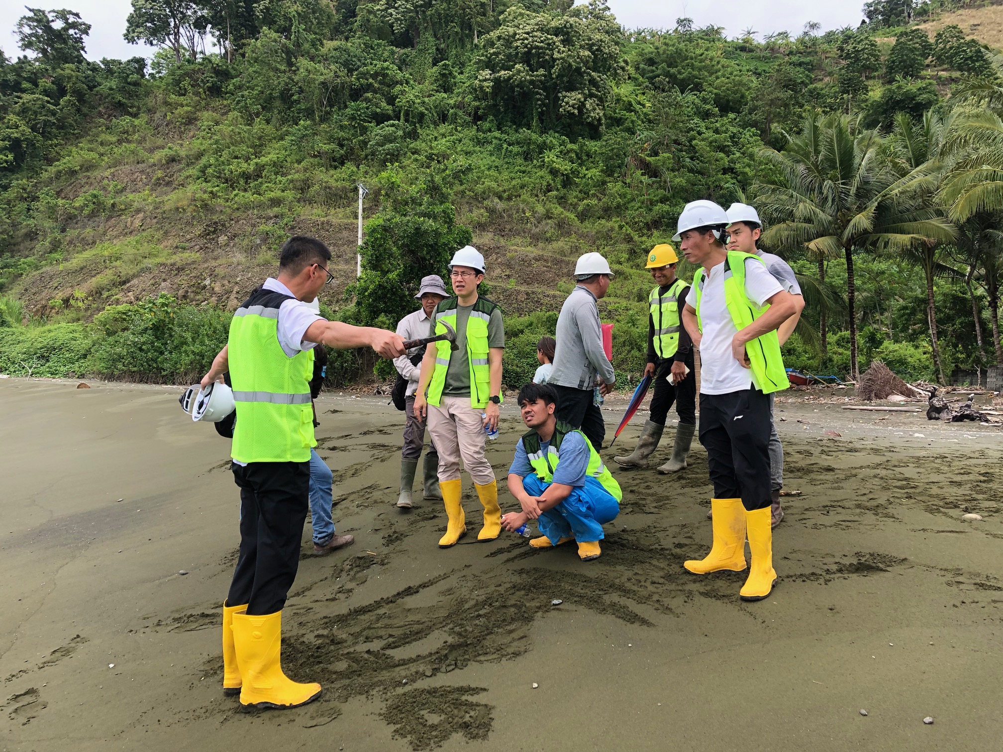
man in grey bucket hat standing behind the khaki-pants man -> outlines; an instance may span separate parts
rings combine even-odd
[[[448,298],[449,294],[442,278],[430,274],[421,278],[421,287],[414,297],[421,301],[421,308],[409,313],[397,324],[397,334],[405,341],[428,336],[429,317],[435,306]],[[407,422],[404,424],[404,445],[400,450],[400,496],[397,498],[397,506],[402,509],[411,508],[411,486],[414,484],[414,473],[417,471],[418,457],[421,456],[421,446],[425,441],[425,423],[414,417],[414,393],[418,389],[421,358],[424,354],[424,347],[416,347],[393,360],[397,373],[407,379],[407,390],[404,392],[404,413],[407,415]],[[442,498],[438,489],[437,471],[438,452],[435,451],[434,442],[429,439],[428,451],[425,453],[423,498]]]

